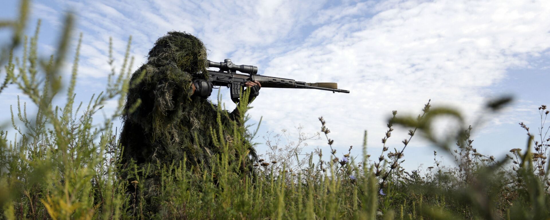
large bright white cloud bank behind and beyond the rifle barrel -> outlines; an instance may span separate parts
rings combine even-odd
[[[471,118],[508,68],[526,67],[527,58],[550,46],[550,5],[541,1],[406,1],[375,8],[384,9],[372,18],[325,19],[331,22],[305,46],[274,58],[265,70],[296,80],[336,81],[351,94],[266,89],[252,115],[264,116],[273,128],[318,127],[316,117],[324,116],[335,126],[335,139],[357,145],[368,129],[377,143],[392,109],[418,112],[429,98]]]

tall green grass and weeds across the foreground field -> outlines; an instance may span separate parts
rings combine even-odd
[[[321,135],[331,149],[329,161],[321,159],[322,151],[299,157],[296,152],[304,146],[299,141],[286,147],[282,156],[272,154],[270,161],[257,161],[253,175],[245,174],[240,172],[240,163],[247,161],[248,154],[239,144],[244,141],[228,144],[218,135],[220,131],[211,131],[221,151],[208,168],[191,167],[188,156],[171,163],[134,165],[127,172],[135,181],[128,185],[119,175],[122,149],[111,123],[122,111],[99,125],[92,123],[94,114],[108,100],[118,100],[118,109],[122,109],[131,86],[128,52],[119,73],[112,67],[106,91],[76,105],[79,47],[67,90],[61,90],[59,79],[73,19],[68,15],[65,20],[55,56],[42,60],[37,56],[38,28],[30,39],[22,34],[28,8],[28,1],[22,1],[18,20],[0,23],[13,30],[12,41],[2,45],[2,89],[17,87],[31,100],[29,105],[39,109],[36,115],[29,115],[26,103],[14,103],[12,128],[0,131],[2,219],[550,218],[546,106],[538,109],[541,127],[537,134],[531,134],[521,123],[528,133],[525,148],[512,149],[501,160],[477,152],[472,146],[472,127],[467,125],[457,126],[445,139],[437,139],[431,130],[434,120],[453,117],[462,122],[463,118],[453,109],[432,107],[428,102],[417,117],[401,117],[394,112],[382,139],[383,152],[373,160],[367,154],[366,132],[364,161],[354,161],[355,156],[349,153],[337,158],[328,123],[320,118]],[[15,57],[14,50],[22,50],[23,56]],[[53,106],[53,98],[63,92],[65,105]],[[487,104],[487,110],[499,111],[509,101],[494,100]],[[243,117],[246,106],[240,108]],[[389,151],[386,142],[393,141],[394,126],[409,128],[409,138],[402,141],[402,149]],[[8,130],[15,134],[8,134]],[[250,136],[244,128],[233,131],[233,140]],[[444,167],[434,160],[426,174],[406,171],[401,166],[404,152],[417,134],[438,146],[434,156],[454,156],[455,166]],[[301,139],[308,138],[316,136]],[[157,172],[160,184],[148,183],[149,172]]]

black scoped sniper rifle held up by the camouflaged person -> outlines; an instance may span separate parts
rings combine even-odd
[[[239,102],[246,81],[259,81],[265,88],[318,89],[349,93],[349,90],[338,89],[336,83],[306,83],[293,79],[258,75],[258,68],[253,65],[235,65],[231,59],[223,62],[207,61],[207,67],[219,68],[219,71],[208,70],[208,81],[214,86],[227,86],[230,89],[231,100]],[[237,71],[245,74],[238,74]]]

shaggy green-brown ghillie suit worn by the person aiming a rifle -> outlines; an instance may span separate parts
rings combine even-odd
[[[192,80],[208,77],[206,56],[206,48],[199,38],[172,31],[155,42],[147,62],[133,73],[120,135],[122,178],[129,182],[135,180],[124,168],[131,161],[140,168],[152,164],[151,167],[158,169],[157,164],[177,164],[185,155],[187,167],[201,171],[220,153],[211,133],[211,129],[219,130],[217,106],[205,98],[192,96]],[[233,134],[232,123],[232,114],[223,111],[222,130],[229,139]],[[249,147],[248,164],[251,165],[257,159],[256,154],[249,142],[244,144]],[[147,176],[144,185],[150,193],[155,191],[154,186],[160,185],[159,174],[141,172],[138,175]],[[134,187],[130,185],[129,191]]]

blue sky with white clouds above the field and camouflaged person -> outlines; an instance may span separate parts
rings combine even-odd
[[[13,19],[17,7],[18,1],[3,1],[0,19]],[[261,75],[334,82],[350,90],[333,94],[261,89],[249,111],[251,123],[262,118],[255,139],[260,153],[266,149],[262,136],[269,131],[280,134],[287,129],[290,140],[296,141],[296,127],[314,134],[322,116],[337,155],[354,146],[351,154],[360,156],[365,130],[368,152],[378,155],[392,111],[415,116],[431,100],[432,106],[463,112],[465,125],[483,116],[483,123],[472,130],[474,147],[502,158],[510,149],[525,147],[527,136],[518,123],[536,133],[541,126],[537,108],[550,105],[548,1],[37,0],[32,1],[27,33],[31,35],[36,20],[42,19],[42,57],[54,53],[68,11],[76,15],[73,53],[78,32],[84,36],[75,91],[76,99],[84,102],[105,89],[109,37],[120,67],[132,36],[134,70],[146,61],[155,40],[172,30],[201,38],[211,61],[231,58],[239,65],[259,67]],[[6,36],[0,32],[0,39]],[[228,90],[222,88],[221,94],[226,108],[234,108],[226,98]],[[13,86],[0,95],[0,121],[9,120],[8,106],[16,103],[17,95]],[[487,114],[485,103],[502,95],[513,95],[514,102],[502,112]],[[116,101],[108,102],[103,113],[111,114],[115,107]],[[453,123],[439,120],[438,134],[445,135]],[[406,130],[396,127],[387,146],[401,149]],[[319,147],[328,155],[326,142],[324,137],[309,141],[304,151]],[[404,152],[405,167],[431,166],[433,150],[415,136]]]

